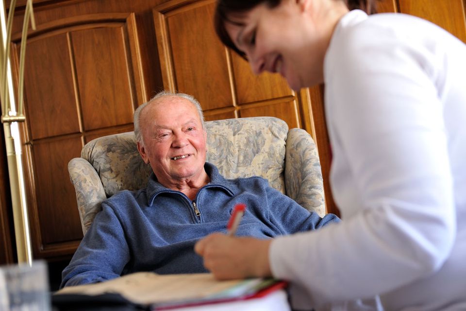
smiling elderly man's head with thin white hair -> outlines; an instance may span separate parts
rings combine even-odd
[[[144,108],[139,124],[144,145],[138,142],[138,151],[162,185],[172,188],[205,174],[206,132],[194,104],[161,97]]]

